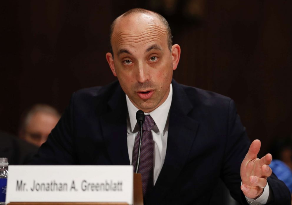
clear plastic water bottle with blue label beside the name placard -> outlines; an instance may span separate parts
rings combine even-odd
[[[0,204],[5,204],[8,177],[8,159],[0,158]]]

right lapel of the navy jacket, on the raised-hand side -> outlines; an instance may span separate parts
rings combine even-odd
[[[149,202],[159,202],[186,163],[198,129],[198,122],[188,117],[192,104],[182,87],[172,80],[172,103],[169,115],[165,161],[155,183]]]

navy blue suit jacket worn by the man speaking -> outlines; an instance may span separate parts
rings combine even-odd
[[[231,195],[240,190],[240,164],[250,141],[233,100],[172,81],[167,150],[145,204],[208,204],[222,178]],[[125,93],[116,81],[72,95],[70,105],[39,149],[33,164],[130,165]],[[272,204],[290,204],[290,193],[272,175]]]

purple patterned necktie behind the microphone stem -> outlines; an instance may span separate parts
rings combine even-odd
[[[143,196],[145,197],[153,187],[153,150],[154,143],[151,130],[154,126],[154,121],[150,115],[145,115],[145,121],[143,123],[142,144],[140,152],[140,165],[138,173],[142,174],[142,188]],[[134,172],[136,170],[138,148],[140,140],[140,131],[135,138],[135,144],[133,149],[132,165],[134,166]]]

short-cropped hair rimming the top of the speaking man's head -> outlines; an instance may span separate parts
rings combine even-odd
[[[161,22],[161,24],[164,26],[164,28],[167,31],[167,45],[168,45],[168,49],[171,51],[172,35],[171,35],[171,29],[169,27],[169,24],[168,24],[167,20],[162,15],[160,15],[160,14],[158,14],[156,12],[152,12],[152,11],[149,11],[149,10],[146,10],[146,9],[141,9],[141,8],[135,8],[135,9],[131,9],[131,10],[125,12],[124,14],[120,15],[119,17],[117,17],[112,22],[112,24],[110,26],[109,38],[110,38],[110,45],[111,45],[110,49],[111,49],[112,55],[113,55],[113,51],[112,51],[112,35],[113,35],[113,32],[114,32],[115,25],[117,24],[117,22],[120,19],[125,18],[125,17],[129,17],[129,16],[133,16],[135,14],[148,14],[148,15],[151,15],[151,16],[159,19],[159,21]]]

